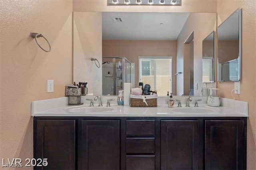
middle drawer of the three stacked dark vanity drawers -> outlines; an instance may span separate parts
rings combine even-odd
[[[155,153],[155,138],[126,138],[126,153]]]

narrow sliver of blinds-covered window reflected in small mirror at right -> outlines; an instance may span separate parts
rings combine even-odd
[[[208,83],[213,80],[213,57],[203,57],[203,77],[202,82]]]

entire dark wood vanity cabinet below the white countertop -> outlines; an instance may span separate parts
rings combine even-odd
[[[44,170],[246,170],[246,117],[34,117]]]

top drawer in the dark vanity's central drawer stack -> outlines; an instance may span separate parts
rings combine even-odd
[[[126,120],[126,135],[155,135],[155,120]]]

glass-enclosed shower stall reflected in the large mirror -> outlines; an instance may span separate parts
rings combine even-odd
[[[118,95],[131,83],[131,63],[125,57],[102,57],[102,95]]]

